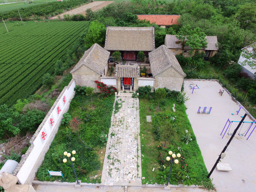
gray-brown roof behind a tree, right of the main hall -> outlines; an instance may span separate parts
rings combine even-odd
[[[219,50],[217,36],[205,36],[205,38],[208,44],[204,50]],[[179,39],[175,35],[166,35],[164,44],[169,49],[182,49],[181,43],[177,44],[177,41],[179,41]],[[190,49],[190,47],[185,46],[184,49]]]

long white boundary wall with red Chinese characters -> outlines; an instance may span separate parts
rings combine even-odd
[[[75,81],[72,79],[69,85],[62,90],[43,122],[30,139],[31,146],[14,171],[14,175],[18,177],[20,184],[28,184],[35,178],[37,169],[42,164],[44,155],[59,129],[62,115],[69,109],[70,102],[75,95],[74,88]]]

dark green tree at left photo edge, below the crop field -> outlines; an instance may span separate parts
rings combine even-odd
[[[0,106],[0,138],[4,135],[7,138],[11,138],[13,135],[17,135],[20,132],[20,128],[15,126],[16,119],[19,117],[18,112],[14,112],[7,105]]]

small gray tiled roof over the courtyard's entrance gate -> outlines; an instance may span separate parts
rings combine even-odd
[[[140,67],[138,65],[117,65],[115,77],[139,77]]]

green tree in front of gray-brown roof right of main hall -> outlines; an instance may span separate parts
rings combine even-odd
[[[181,43],[182,49],[187,45],[190,47],[189,54],[193,55],[195,50],[207,47],[205,33],[199,27],[191,29],[190,26],[182,26],[176,37],[179,39],[177,43]]]

